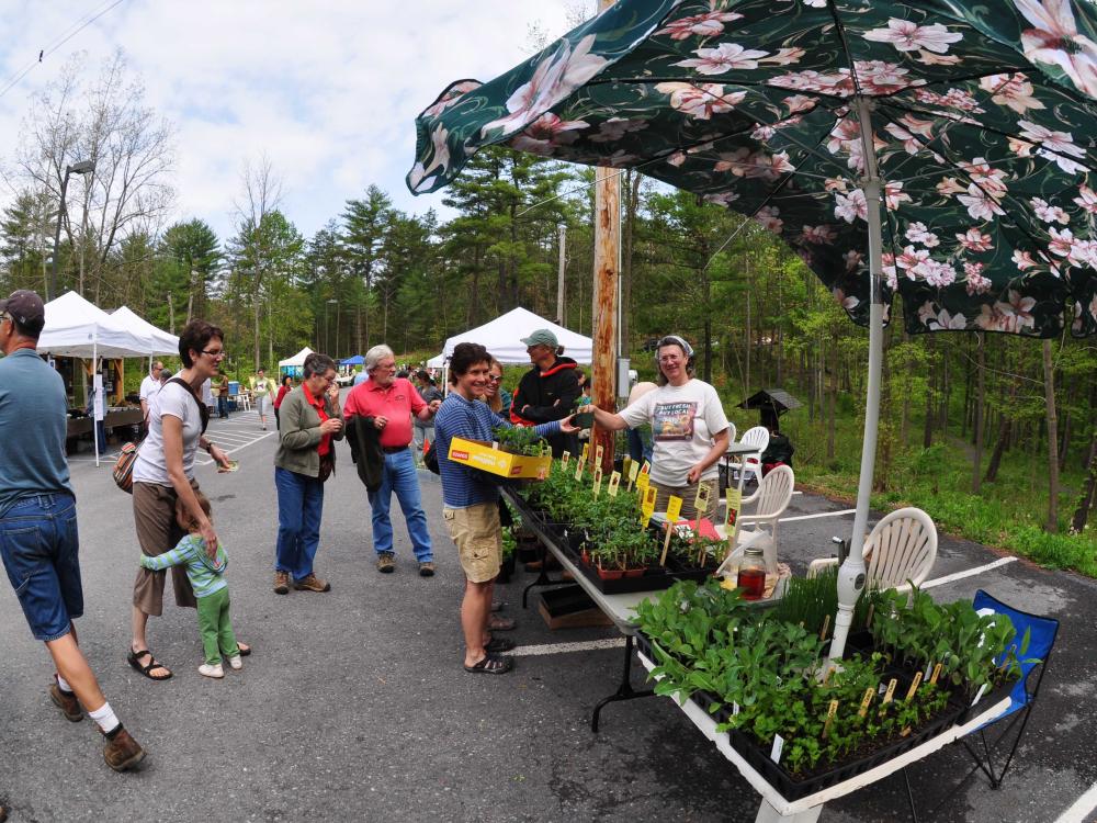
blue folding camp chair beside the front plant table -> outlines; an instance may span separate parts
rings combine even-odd
[[[1006,776],[1006,770],[1009,768],[1009,764],[1013,763],[1014,755],[1017,754],[1017,747],[1020,745],[1021,735],[1025,734],[1025,726],[1028,724],[1029,713],[1032,711],[1032,704],[1036,702],[1036,698],[1040,694],[1040,684],[1043,683],[1043,675],[1048,670],[1048,658],[1051,656],[1051,647],[1055,645],[1055,634],[1059,632],[1059,621],[1052,618],[1029,615],[1026,611],[1020,611],[1010,606],[1006,606],[1006,604],[991,597],[991,595],[983,591],[983,589],[975,593],[973,606],[976,611],[980,609],[992,609],[997,615],[1008,616],[1014,623],[1014,629],[1017,630],[1017,638],[1014,640],[1010,649],[1015,650],[1015,654],[1020,661],[1021,679],[1017,681],[1017,686],[1014,687],[1014,690],[1009,695],[1009,708],[1006,709],[1005,714],[992,720],[989,723],[986,723],[976,730],[980,742],[982,743],[982,756],[976,753],[975,748],[969,744],[966,740],[960,741],[963,743],[964,748],[968,749],[968,753],[975,760],[975,766],[968,774],[968,777],[970,777],[976,769],[983,769],[983,773],[991,780],[991,788],[997,789],[1002,786],[1002,780]],[[1025,654],[1021,654],[1020,644],[1025,638],[1026,631],[1029,632],[1029,645]],[[999,659],[1005,658],[1008,653],[1009,649],[1003,653]],[[1031,684],[1032,669],[1037,667],[1040,668],[1040,672],[1036,676],[1036,683]],[[1005,729],[1003,729],[1002,733],[998,734],[993,742],[988,743],[985,734],[987,726],[1000,723],[1004,720],[1008,720],[1009,722],[1006,724]],[[1008,735],[1010,730],[1017,725],[1018,721],[1020,721],[1020,726],[1017,729],[1017,736],[1014,737],[1014,743],[1009,748],[1006,762],[1003,764],[1000,770],[996,770],[992,753],[1002,746],[1006,735]]]

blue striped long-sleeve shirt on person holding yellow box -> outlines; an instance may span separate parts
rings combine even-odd
[[[449,454],[453,438],[490,441],[491,430],[500,426],[512,428],[509,421],[496,417],[486,403],[467,401],[456,392],[451,392],[438,409],[434,448],[438,449],[438,470],[442,476],[442,503],[446,508],[464,509],[499,499],[499,486],[491,482],[491,475],[454,463]],[[559,420],[534,426],[533,430],[539,435],[555,435],[559,431]]]

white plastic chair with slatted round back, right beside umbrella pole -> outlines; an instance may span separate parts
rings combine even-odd
[[[868,585],[872,588],[911,590],[911,583],[920,586],[937,560],[937,527],[921,509],[905,508],[884,517],[864,541],[864,565]],[[838,565],[837,557],[813,560],[807,576],[814,577],[828,566]]]

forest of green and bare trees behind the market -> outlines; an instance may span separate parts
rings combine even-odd
[[[94,171],[70,176],[58,215],[66,167],[87,159]],[[172,222],[172,128],[145,103],[122,53],[95,78],[73,60],[35,99],[15,167],[19,193],[0,222],[0,292],[71,289],[174,332],[203,317],[225,330],[237,379],[260,364],[273,371],[303,346],[349,357],[385,342],[419,362],[519,305],[591,331],[588,168],[485,150],[448,189],[444,215],[403,212],[371,185],[306,237],[282,211],[278,170],[259,157],[240,172],[234,233],[218,237],[201,215]],[[742,216],[635,171],[620,179],[621,337],[641,379],[654,374],[645,346],[679,334],[739,431],[756,419],[736,404],[785,388],[804,404],[782,418],[798,483],[851,497],[867,331],[761,225],[744,227]],[[1097,576],[1095,342],[1065,332],[1042,342],[912,337],[898,301],[893,311],[874,505],[918,506],[941,529]]]

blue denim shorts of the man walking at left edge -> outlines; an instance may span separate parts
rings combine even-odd
[[[0,559],[37,640],[64,638],[83,615],[76,498],[36,494],[0,517]]]

